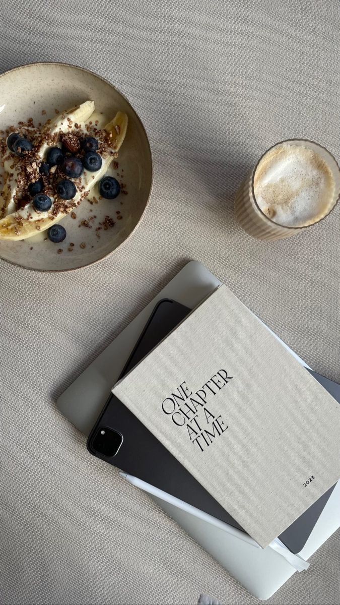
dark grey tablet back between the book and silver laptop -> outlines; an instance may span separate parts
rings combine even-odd
[[[151,351],[190,312],[175,301],[160,301],[155,307],[139,341],[136,344],[121,376]],[[323,378],[323,377],[320,377]],[[316,375],[318,379],[318,375]],[[321,382],[321,380],[319,381]],[[331,381],[330,381],[331,382]],[[321,382],[322,384],[322,382]],[[333,385],[335,383],[332,383]],[[328,389],[327,389],[328,390]],[[334,396],[334,393],[332,393]],[[340,387],[338,393],[340,398]],[[122,444],[115,456],[103,454],[105,448],[100,443],[100,432],[114,430],[123,436]],[[106,437],[105,437],[106,438]],[[94,456],[117,466],[122,471],[142,479],[155,487],[174,495],[180,500],[201,509],[229,525],[243,531],[238,523],[207,492],[200,483],[182,466],[174,456],[157,440],[117,397],[111,395],[88,437],[88,450]],[[100,451],[102,449],[102,451]],[[310,506],[279,537],[290,551],[301,551],[310,535],[333,488]]]

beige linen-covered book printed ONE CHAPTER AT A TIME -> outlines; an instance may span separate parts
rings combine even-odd
[[[260,546],[339,479],[338,403],[226,286],[113,393]]]

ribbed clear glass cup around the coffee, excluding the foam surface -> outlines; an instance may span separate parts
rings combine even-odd
[[[300,145],[312,149],[318,155],[322,157],[322,159],[327,163],[330,170],[332,171],[333,178],[335,181],[335,189],[332,200],[330,201],[329,206],[327,206],[327,210],[325,210],[324,214],[318,214],[315,222],[309,223],[306,226],[299,227],[286,227],[279,223],[275,223],[275,221],[268,218],[262,211],[260,206],[255,198],[254,194],[254,177],[255,172],[257,171],[258,165],[260,164],[263,157],[274,147],[278,145]],[[295,235],[299,231],[303,229],[307,229],[307,227],[312,226],[313,224],[319,223],[325,217],[327,217],[330,212],[332,212],[333,208],[335,208],[336,203],[338,202],[340,197],[340,169],[339,165],[336,162],[335,157],[327,151],[324,147],[315,143],[313,141],[308,141],[304,139],[289,139],[286,141],[281,141],[280,143],[276,143],[260,157],[257,165],[253,169],[253,171],[244,179],[241,184],[235,198],[235,216],[237,218],[238,223],[240,223],[242,229],[252,235],[252,237],[256,237],[259,240],[281,240],[285,237],[291,237]]]

